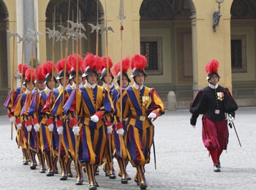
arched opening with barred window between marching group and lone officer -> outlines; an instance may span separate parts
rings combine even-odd
[[[148,58],[146,72],[150,86],[157,88],[164,101],[173,90],[177,101],[193,97],[192,18],[195,18],[192,0],[141,3],[140,53]]]

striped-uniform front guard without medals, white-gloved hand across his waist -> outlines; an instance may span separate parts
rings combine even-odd
[[[85,58],[86,85],[74,89],[64,107],[64,114],[69,115],[70,127],[80,141],[78,142],[78,161],[86,167],[89,190],[97,189],[95,178],[97,167],[102,164],[106,145],[106,127],[102,120],[113,112],[113,102],[108,91],[97,86],[100,63],[92,53]],[[97,145],[97,146],[95,146]]]

